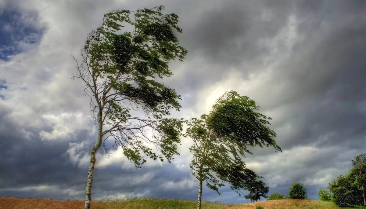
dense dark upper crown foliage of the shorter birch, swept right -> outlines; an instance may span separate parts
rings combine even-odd
[[[274,140],[276,133],[267,126],[272,118],[257,111],[259,106],[249,97],[235,91],[225,92],[213,106],[210,125],[216,136],[227,137],[249,154],[245,147],[256,145],[273,146],[275,151],[281,151]]]

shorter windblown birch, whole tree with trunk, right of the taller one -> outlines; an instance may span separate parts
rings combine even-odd
[[[273,139],[276,133],[267,126],[267,120],[272,118],[257,113],[258,110],[247,96],[228,91],[216,100],[209,114],[187,121],[184,136],[193,139],[190,168],[199,183],[198,209],[203,181],[219,195],[219,187],[225,186],[224,183],[238,194],[254,185],[259,176],[246,168],[242,160],[246,153],[252,154],[247,146],[273,146],[281,151]]]

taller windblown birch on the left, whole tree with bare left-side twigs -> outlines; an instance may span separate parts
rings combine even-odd
[[[146,159],[169,162],[178,155],[183,120],[166,118],[170,109],[179,111],[180,96],[161,83],[172,72],[168,62],[183,61],[187,50],[179,46],[173,29],[178,15],[163,14],[164,6],[139,9],[131,21],[129,10],[117,10],[104,15],[103,22],[87,35],[81,50],[82,61],[76,60],[73,78],[85,82],[84,92],[90,96],[90,108],[98,127],[96,143],[90,151],[85,209],[89,209],[96,151],[105,140],[112,138],[112,149],[122,148],[123,154],[140,168]],[[121,32],[123,23],[132,32]],[[73,56],[74,57],[74,56]],[[132,116],[142,111],[146,117]],[[148,131],[150,132],[148,135]],[[152,137],[150,137],[152,134]],[[147,143],[160,152],[156,154]]]

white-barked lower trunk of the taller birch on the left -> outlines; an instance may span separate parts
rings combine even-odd
[[[86,180],[86,197],[85,197],[85,206],[84,209],[90,209],[90,201],[91,201],[91,184],[93,183],[93,173],[94,166],[96,162],[96,153],[98,148],[102,145],[102,122],[101,115],[98,115],[98,139],[97,142],[90,150],[90,165],[88,170],[88,177]]]

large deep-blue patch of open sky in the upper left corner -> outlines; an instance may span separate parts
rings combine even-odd
[[[44,29],[37,28],[30,18],[37,19],[37,13],[5,10],[0,14],[0,60],[7,61],[8,56],[22,52],[23,44],[36,44],[41,40]]]

